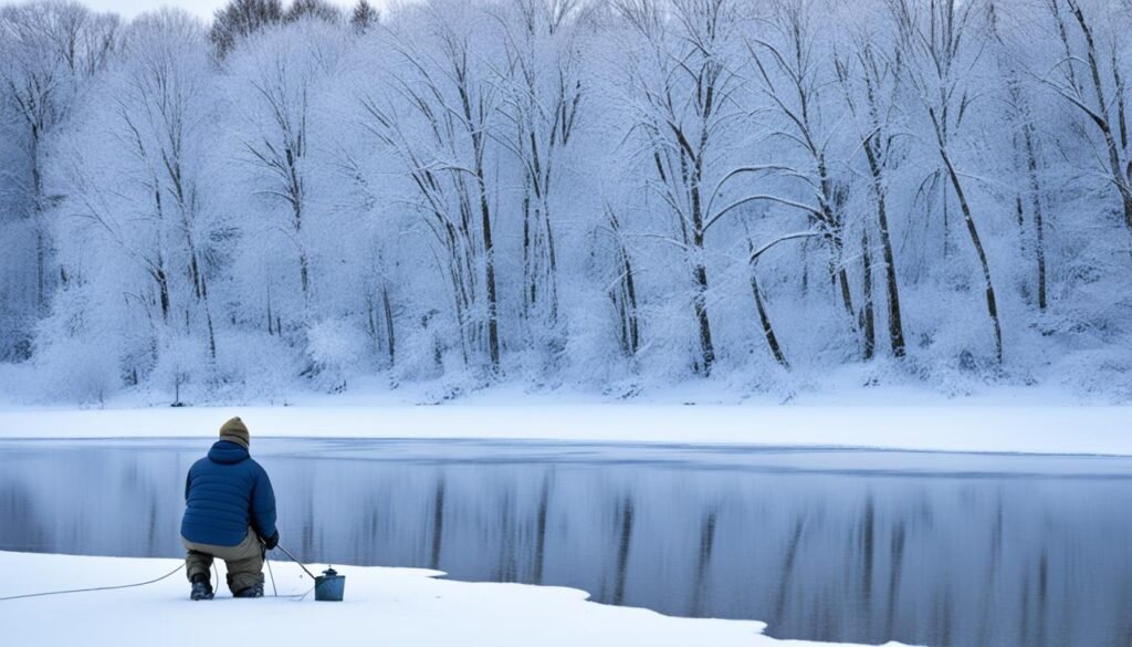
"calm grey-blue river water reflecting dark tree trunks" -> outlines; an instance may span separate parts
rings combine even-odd
[[[0,442],[0,548],[178,556],[207,441]],[[1132,645],[1132,460],[257,440],[283,545],[783,638]]]

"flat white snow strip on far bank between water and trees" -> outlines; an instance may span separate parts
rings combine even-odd
[[[0,437],[460,437],[1132,456],[1132,407],[444,405],[0,410]]]

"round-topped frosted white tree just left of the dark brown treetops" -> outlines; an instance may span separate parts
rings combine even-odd
[[[120,321],[136,342],[114,358],[129,381],[144,378],[174,339],[216,357],[208,80],[204,26],[185,12],[144,15],[60,145],[57,237],[86,250],[65,259],[65,290],[86,293],[74,303],[108,310],[98,316]],[[57,307],[52,316],[80,315]]]

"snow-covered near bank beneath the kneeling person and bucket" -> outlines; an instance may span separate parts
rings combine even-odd
[[[175,560],[0,552],[0,597],[145,581]],[[310,579],[273,563],[280,595]],[[432,571],[349,567],[345,602],[188,599],[182,573],[139,588],[0,602],[6,645],[539,645],[774,647],[817,645],[762,636],[760,622],[669,618],[586,602],[583,591],[436,579]],[[271,584],[267,586],[271,595]],[[898,645],[892,642],[890,645]]]

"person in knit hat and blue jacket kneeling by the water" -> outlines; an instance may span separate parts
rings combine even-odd
[[[275,493],[267,473],[248,453],[250,436],[240,418],[220,428],[208,456],[192,463],[185,482],[181,540],[192,599],[212,599],[213,557],[224,560],[235,597],[263,597],[264,553],[280,543]]]

